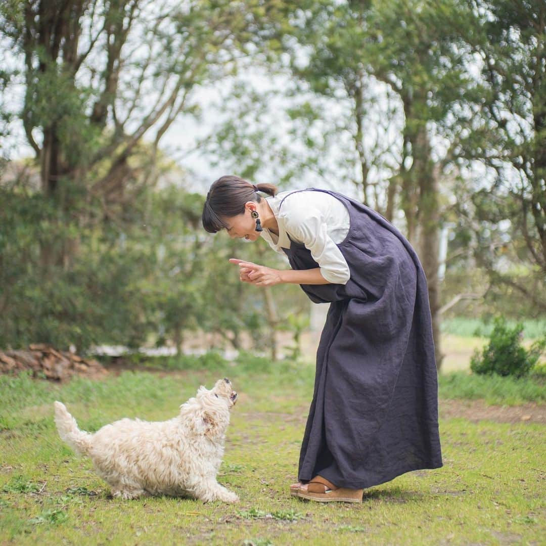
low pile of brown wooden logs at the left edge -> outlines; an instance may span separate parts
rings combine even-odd
[[[57,351],[44,343],[33,343],[27,350],[0,351],[0,373],[31,370],[33,377],[63,381],[74,375],[100,377],[108,373],[97,360]]]

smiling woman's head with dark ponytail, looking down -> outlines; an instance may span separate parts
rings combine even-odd
[[[222,176],[213,182],[207,193],[201,218],[205,230],[216,233],[225,229],[233,238],[258,239],[259,233],[256,232],[256,219],[252,217],[252,211],[260,209],[263,200],[257,191],[275,195],[277,187],[272,184],[254,186],[234,175]]]

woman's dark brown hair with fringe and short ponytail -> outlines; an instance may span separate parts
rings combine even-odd
[[[221,176],[212,183],[203,207],[203,227],[209,233],[227,228],[223,218],[231,218],[245,212],[247,201],[259,203],[262,198],[257,192],[269,195],[277,193],[273,184],[252,184],[235,175]]]

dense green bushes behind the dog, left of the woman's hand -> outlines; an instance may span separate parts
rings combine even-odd
[[[257,262],[258,249],[224,233],[203,236],[201,195],[151,188],[133,201],[122,225],[84,230],[39,194],[0,188],[0,200],[0,347],[44,342],[85,352],[170,340],[181,349],[198,329],[222,336],[224,346],[236,347],[244,330],[263,340],[264,301],[252,297],[256,288],[241,283],[228,262],[234,256]],[[74,210],[84,207],[77,194],[71,200]],[[78,253],[45,265],[42,245],[52,252],[77,246]],[[266,262],[286,267],[274,256]],[[298,292],[280,298],[286,302],[280,312],[305,297],[299,287],[278,291]]]

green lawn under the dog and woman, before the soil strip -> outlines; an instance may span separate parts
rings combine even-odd
[[[157,363],[156,363],[157,364]],[[441,420],[444,466],[365,491],[358,505],[290,497],[313,388],[313,366],[217,361],[212,369],[123,372],[54,384],[0,377],[0,543],[540,544],[545,427]],[[121,417],[173,417],[220,378],[240,399],[218,480],[234,505],[169,497],[121,501],[57,436],[52,402],[82,429]],[[441,382],[441,389],[449,387]],[[442,390],[441,390],[442,393]]]

